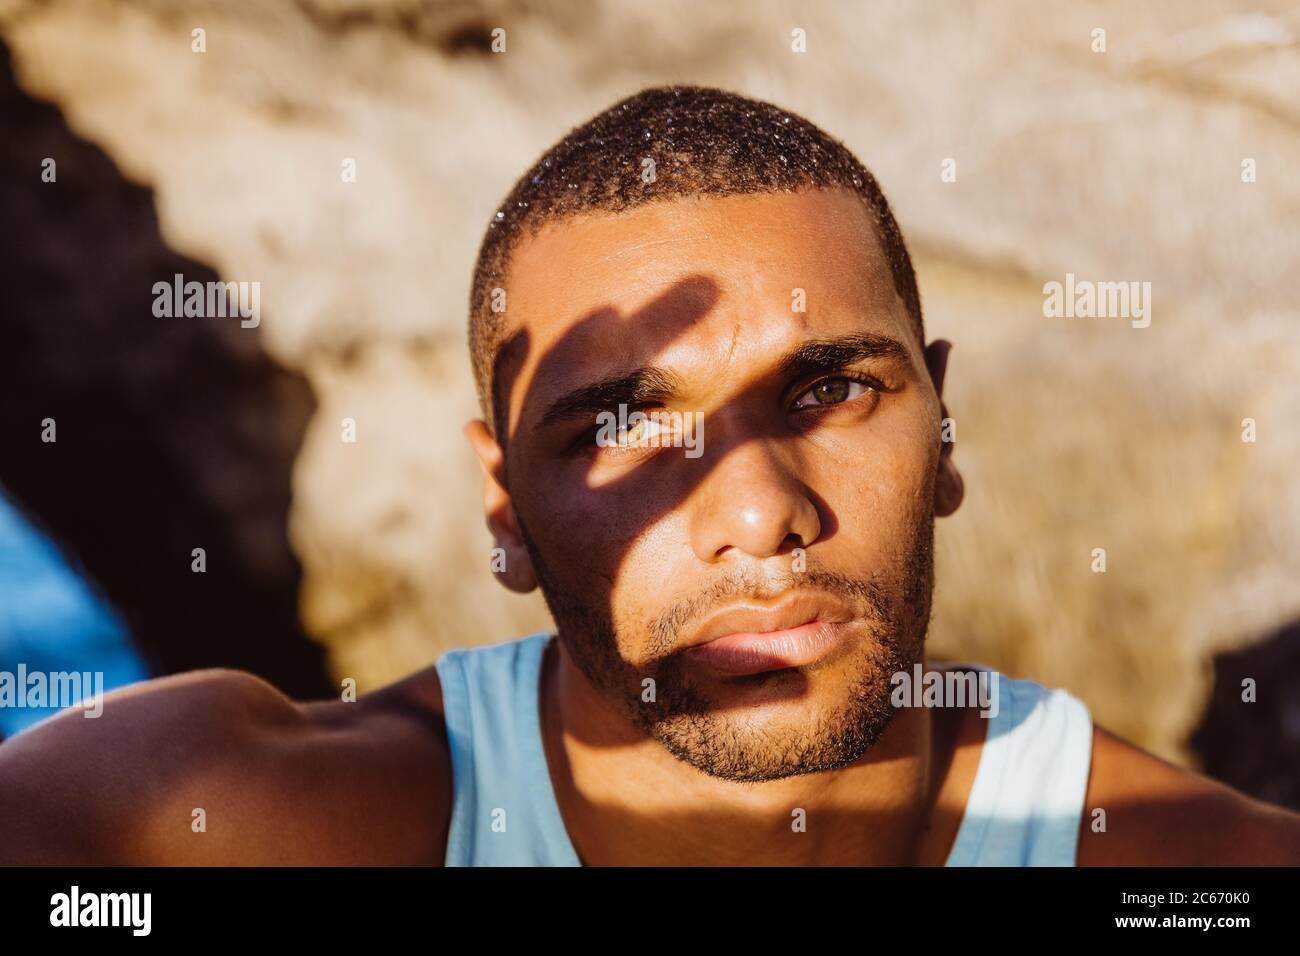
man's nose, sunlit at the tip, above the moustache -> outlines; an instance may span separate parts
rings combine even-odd
[[[733,549],[770,558],[786,546],[807,548],[822,533],[797,463],[774,441],[728,449],[701,490],[690,519],[690,545],[701,561],[720,561]]]

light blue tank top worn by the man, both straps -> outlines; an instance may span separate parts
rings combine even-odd
[[[452,808],[448,866],[578,866],[542,748],[549,632],[438,658]],[[997,674],[975,665],[946,665]],[[997,674],[998,708],[948,866],[1074,866],[1092,718],[1061,689]]]

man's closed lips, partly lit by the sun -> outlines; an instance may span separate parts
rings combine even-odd
[[[824,598],[732,607],[705,622],[686,657],[732,676],[806,667],[849,639],[852,620],[848,607]]]

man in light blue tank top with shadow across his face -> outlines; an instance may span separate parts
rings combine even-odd
[[[520,179],[471,294],[499,575],[558,636],[351,704],[230,671],[127,688],[0,745],[0,853],[1300,862],[1300,817],[1063,691],[926,661],[933,518],[962,499],[949,349],[842,144],[716,90],[612,107]]]

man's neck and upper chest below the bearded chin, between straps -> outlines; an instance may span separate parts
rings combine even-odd
[[[956,735],[928,708],[898,710],[871,752],[840,770],[738,783],[679,761],[632,726],[560,641],[550,641],[542,674],[551,782],[588,865],[888,866],[946,857],[965,793],[944,792]]]

